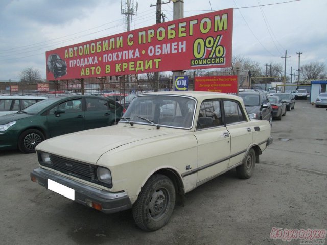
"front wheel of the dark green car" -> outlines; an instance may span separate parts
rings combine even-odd
[[[35,147],[45,140],[44,134],[37,129],[28,129],[18,138],[18,149],[24,153],[35,152]]]

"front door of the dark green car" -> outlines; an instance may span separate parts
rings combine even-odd
[[[82,98],[67,99],[53,106],[46,115],[50,137],[84,130]]]

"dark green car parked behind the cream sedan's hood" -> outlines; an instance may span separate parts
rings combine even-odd
[[[96,96],[62,96],[43,100],[11,115],[0,116],[0,150],[35,152],[45,139],[115,124],[124,107]]]

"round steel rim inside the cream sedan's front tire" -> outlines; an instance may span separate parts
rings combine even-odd
[[[166,189],[159,189],[152,194],[149,203],[149,212],[153,219],[159,219],[165,214],[169,203],[169,194]]]

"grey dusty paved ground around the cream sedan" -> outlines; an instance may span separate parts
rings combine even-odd
[[[35,154],[0,152],[1,244],[300,244],[273,227],[327,229],[327,111],[308,101],[273,121],[274,142],[254,176],[235,170],[186,194],[170,222],[140,230],[131,211],[106,215],[30,180]]]

